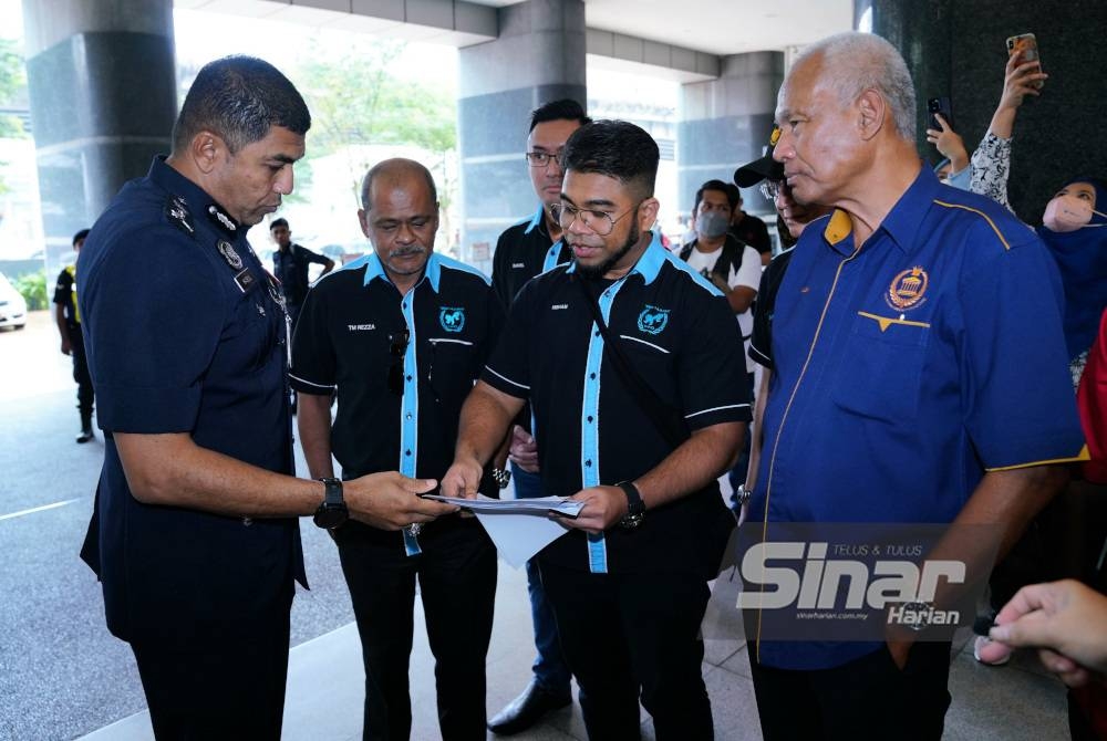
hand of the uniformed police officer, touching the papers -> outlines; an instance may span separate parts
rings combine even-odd
[[[381,530],[400,530],[457,512],[453,504],[418,495],[433,491],[436,483],[434,479],[410,479],[389,471],[345,481],[342,489],[352,519]]]

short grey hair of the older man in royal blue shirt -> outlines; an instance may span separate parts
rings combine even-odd
[[[903,56],[886,39],[859,31],[837,33],[804,49],[793,69],[813,58],[820,58],[823,76],[842,105],[867,90],[877,91],[891,108],[900,137],[914,142],[914,83]]]

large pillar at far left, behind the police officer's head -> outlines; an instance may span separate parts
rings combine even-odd
[[[120,187],[168,153],[172,0],[23,0],[46,273]]]

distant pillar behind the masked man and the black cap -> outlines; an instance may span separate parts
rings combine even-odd
[[[681,212],[691,212],[704,181],[730,182],[739,165],[761,157],[773,132],[783,82],[784,54],[753,52],[724,56],[717,80],[681,86],[676,136]],[[749,213],[774,213],[756,188],[744,190],[742,198]]]

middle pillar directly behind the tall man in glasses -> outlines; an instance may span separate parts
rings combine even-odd
[[[497,13],[499,38],[458,53],[462,259],[485,271],[499,233],[536,208],[524,157],[530,112],[587,101],[581,0],[528,0]]]

